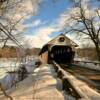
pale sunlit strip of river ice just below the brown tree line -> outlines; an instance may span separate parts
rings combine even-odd
[[[16,58],[9,58],[9,59],[0,58],[0,79],[3,78],[7,74],[6,72],[14,71],[14,70],[18,69],[19,65],[22,63],[24,63],[24,64],[26,64],[27,62],[29,62],[29,64],[35,63],[35,61],[38,60],[38,57],[37,56],[29,56],[29,57],[23,58],[21,60],[22,60],[22,62],[19,62],[19,60]]]

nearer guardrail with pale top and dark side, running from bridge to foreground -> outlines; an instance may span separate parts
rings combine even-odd
[[[71,93],[76,99],[84,99],[89,100],[89,97],[81,91],[81,89],[73,84],[75,81],[75,77],[72,76],[70,73],[63,70],[55,61],[53,61],[54,69],[57,72],[57,76],[62,80],[63,90],[66,92]]]

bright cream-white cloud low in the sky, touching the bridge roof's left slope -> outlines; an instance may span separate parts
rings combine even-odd
[[[29,44],[29,47],[42,47],[46,44],[51,38],[49,35],[57,31],[56,28],[45,26],[41,27],[35,32],[34,36],[26,35],[25,41]]]

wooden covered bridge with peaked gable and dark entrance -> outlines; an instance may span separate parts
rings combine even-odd
[[[78,45],[64,34],[60,34],[43,46],[39,53],[42,63],[71,63]]]

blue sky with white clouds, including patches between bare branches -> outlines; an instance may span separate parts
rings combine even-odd
[[[27,0],[26,0],[27,1]],[[37,2],[37,0],[33,0]],[[70,18],[69,13],[75,12],[71,9],[73,7],[72,0],[38,0],[40,5],[33,7],[33,12],[36,14],[28,16],[23,21],[24,27],[24,41],[29,47],[41,48],[48,41],[63,33],[63,28],[67,20],[67,24],[73,24],[68,19]],[[57,1],[57,2],[52,2]],[[76,2],[79,0],[76,0]],[[84,5],[87,2],[93,1],[91,6],[96,8],[100,7],[100,2],[97,3],[95,0],[82,0]],[[27,4],[27,3],[26,3]],[[34,4],[33,4],[34,6]],[[27,4],[28,9],[32,7],[31,3]],[[32,10],[32,9],[31,9]],[[67,35],[76,43],[79,41],[75,40],[75,36]]]

